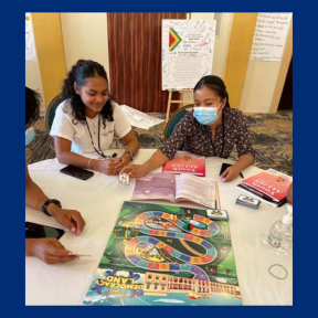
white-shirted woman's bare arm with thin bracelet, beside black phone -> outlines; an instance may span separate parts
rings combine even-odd
[[[62,137],[54,137],[54,148],[60,163],[73,165],[84,169],[92,169],[105,174],[117,174],[115,167],[120,162],[119,158],[105,160],[89,159],[71,151],[72,141]]]

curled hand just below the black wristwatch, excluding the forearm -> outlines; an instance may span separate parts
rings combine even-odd
[[[50,205],[56,206],[55,204]],[[81,234],[86,223],[78,211],[60,209],[59,206],[51,211],[49,210],[51,208],[50,205],[47,212],[54,216],[60,224],[65,225],[75,235]]]

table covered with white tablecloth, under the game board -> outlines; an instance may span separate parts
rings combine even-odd
[[[139,150],[134,163],[145,162],[155,151]],[[106,152],[112,155],[114,150]],[[116,152],[120,156],[124,150],[116,149]],[[226,159],[206,158],[206,177],[219,179],[222,162],[233,163]],[[74,236],[66,231],[61,243],[74,253],[91,254],[92,258],[47,265],[35,257],[25,257],[26,305],[83,304],[123,201],[129,201],[132,195],[134,179],[127,187],[118,183],[118,177],[96,172],[89,180],[82,181],[61,173],[59,170],[63,167],[56,159],[50,159],[30,165],[29,171],[49,198],[59,199],[65,209],[81,211],[86,221],[83,233]],[[157,169],[159,171],[161,169]],[[250,167],[243,174],[247,178],[259,171],[256,167]],[[287,213],[287,206],[272,208],[262,203],[258,210],[253,210],[235,204],[236,198],[242,193],[236,189],[241,180],[237,177],[231,182],[220,181],[219,189],[222,209],[230,214],[232,246],[243,305],[293,305],[293,251],[290,248],[287,254],[282,254],[266,243],[271,226]],[[171,205],[169,202],[165,204]],[[189,206],[204,209],[200,205]],[[25,206],[25,221],[62,227],[53,218],[29,206]],[[273,264],[280,264],[287,269],[286,279],[269,275],[268,268]]]

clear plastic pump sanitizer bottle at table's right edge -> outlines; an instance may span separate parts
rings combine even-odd
[[[289,206],[288,214],[275,222],[268,233],[268,243],[279,252],[287,252],[293,242],[293,208]]]

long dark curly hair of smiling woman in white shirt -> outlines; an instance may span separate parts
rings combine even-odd
[[[62,87],[62,95],[65,99],[71,99],[72,115],[75,118],[73,124],[76,125],[78,121],[85,124],[85,105],[78,94],[74,89],[74,83],[77,86],[85,85],[86,78],[100,76],[108,83],[107,74],[103,65],[91,60],[78,60],[75,65],[72,66],[67,73],[67,77],[64,80]],[[106,126],[106,119],[114,121],[113,118],[113,106],[112,98],[107,99],[103,109],[99,113],[103,118],[104,128]]]

